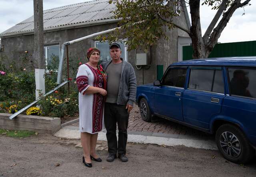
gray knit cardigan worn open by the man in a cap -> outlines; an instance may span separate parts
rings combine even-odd
[[[126,61],[122,63],[122,73],[121,79],[119,83],[119,91],[118,91],[118,98],[117,104],[119,105],[133,105],[136,97],[136,89],[137,89],[137,82],[134,69],[132,65]],[[112,60],[107,62],[102,62],[101,65],[106,71],[108,65],[112,62]]]

